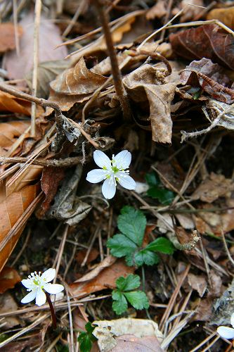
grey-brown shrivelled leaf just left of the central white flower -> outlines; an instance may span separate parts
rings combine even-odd
[[[47,211],[46,218],[63,220],[70,226],[77,225],[91,210],[89,204],[80,201],[76,196],[77,185],[82,175],[82,165],[69,170],[65,180],[55,196],[53,206]]]

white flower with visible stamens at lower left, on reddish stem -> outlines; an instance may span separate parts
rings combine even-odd
[[[22,298],[21,303],[29,303],[36,298],[37,306],[42,306],[46,303],[46,294],[58,294],[63,291],[64,287],[60,284],[48,284],[56,277],[55,269],[48,269],[42,275],[41,272],[31,272],[31,275],[28,276],[28,279],[22,279],[22,284],[27,288],[27,291],[30,291],[24,298]]]

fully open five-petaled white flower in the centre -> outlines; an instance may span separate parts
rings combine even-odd
[[[112,160],[103,151],[94,151],[93,159],[100,169],[89,171],[86,180],[91,183],[105,180],[102,192],[106,199],[115,196],[116,182],[126,189],[136,188],[136,182],[129,176],[129,170],[126,170],[131,163],[129,151],[120,151],[116,156],[112,156]]]

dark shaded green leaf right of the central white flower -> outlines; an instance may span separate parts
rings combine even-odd
[[[147,191],[147,195],[158,199],[160,203],[164,204],[165,206],[169,205],[171,201],[175,198],[175,194],[169,189],[164,188],[162,182],[160,181],[160,177],[157,176],[155,172],[150,172],[145,175],[145,180],[150,186]]]

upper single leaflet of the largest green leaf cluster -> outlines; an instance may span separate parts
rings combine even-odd
[[[121,210],[121,215],[118,217],[117,225],[126,237],[141,246],[145,234],[146,218],[140,210],[136,210],[131,206],[124,206]]]

